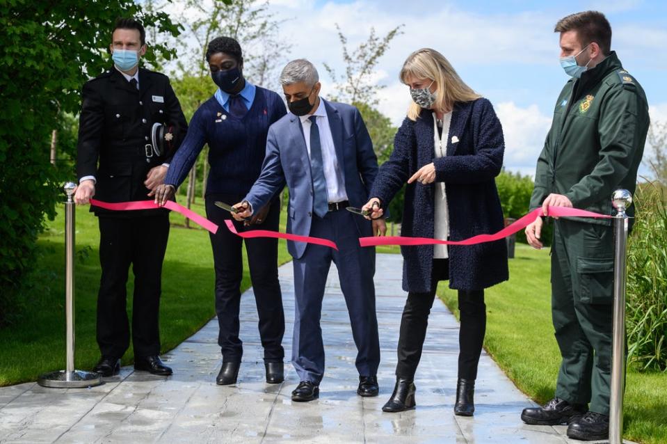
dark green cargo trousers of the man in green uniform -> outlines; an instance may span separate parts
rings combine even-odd
[[[609,415],[613,228],[558,219],[552,246],[552,319],[561,349],[556,397]]]

